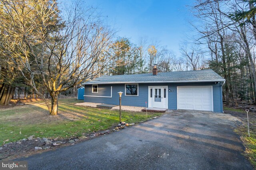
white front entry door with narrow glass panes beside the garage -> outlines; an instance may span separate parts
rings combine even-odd
[[[168,108],[168,86],[148,87],[148,107]]]

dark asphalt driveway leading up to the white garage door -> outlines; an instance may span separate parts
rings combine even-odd
[[[252,169],[222,113],[170,111],[157,119],[20,160],[29,169]]]

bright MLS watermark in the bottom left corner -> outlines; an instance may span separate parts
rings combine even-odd
[[[0,161],[0,170],[28,170],[28,161]]]

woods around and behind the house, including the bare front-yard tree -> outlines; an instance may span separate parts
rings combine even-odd
[[[148,73],[154,64],[159,72],[211,68],[226,79],[227,105],[255,104],[255,0],[197,0],[188,7],[194,32],[180,45],[178,56],[146,37],[136,42],[118,37],[97,9],[80,3],[66,7],[55,0],[0,0],[1,105],[21,88],[42,98],[56,115],[59,94],[81,82]]]

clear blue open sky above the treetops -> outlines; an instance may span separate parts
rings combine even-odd
[[[137,43],[140,37],[180,55],[180,44],[191,33],[188,20],[192,0],[87,0],[86,5],[98,8],[107,22],[118,30],[117,35]]]

